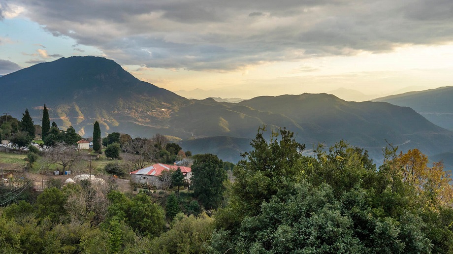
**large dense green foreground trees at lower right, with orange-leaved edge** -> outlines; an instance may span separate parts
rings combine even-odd
[[[218,253],[452,251],[452,187],[440,163],[428,168],[419,151],[396,156],[388,147],[377,170],[367,151],[344,141],[304,157],[291,132],[265,142],[263,131],[216,217]]]

